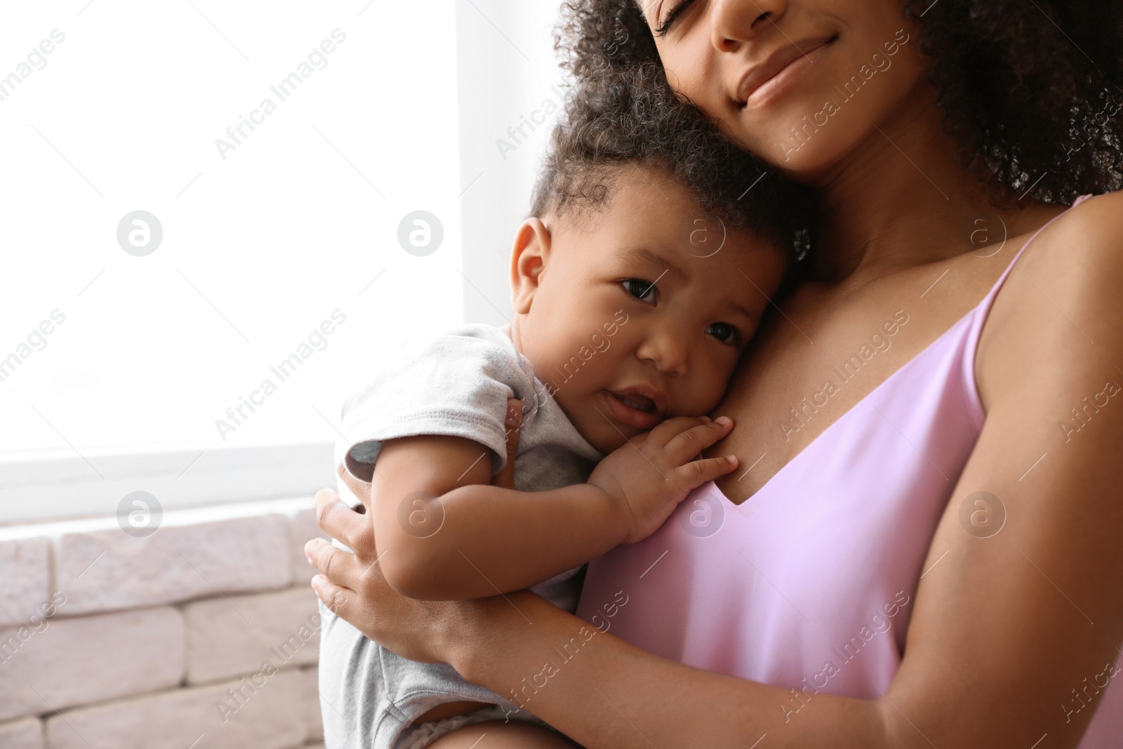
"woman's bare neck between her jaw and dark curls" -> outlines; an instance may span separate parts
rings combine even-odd
[[[960,167],[957,140],[926,84],[830,173],[810,268],[818,281],[865,283],[897,270],[978,249],[976,220],[999,217],[1010,236],[1043,223],[1057,207],[1021,201],[996,209],[979,181]]]

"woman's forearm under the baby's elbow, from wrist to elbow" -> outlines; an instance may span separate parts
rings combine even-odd
[[[526,592],[473,606],[449,631],[449,663],[586,749],[749,749],[766,736],[761,747],[902,746],[888,739],[893,716],[884,701],[684,666]]]

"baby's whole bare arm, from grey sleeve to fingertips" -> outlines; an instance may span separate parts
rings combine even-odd
[[[484,597],[633,544],[658,529],[692,488],[733,469],[727,458],[692,460],[730,427],[673,419],[605,458],[590,483],[545,492],[487,484],[491,454],[469,439],[386,440],[371,485],[386,582],[414,599]],[[426,504],[426,496],[438,499]],[[424,523],[411,524],[411,512],[422,513]]]

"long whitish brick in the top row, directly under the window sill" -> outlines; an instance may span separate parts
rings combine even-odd
[[[58,538],[56,587],[66,614],[185,601],[292,582],[287,519],[281,514],[165,523],[147,538],[120,529]]]

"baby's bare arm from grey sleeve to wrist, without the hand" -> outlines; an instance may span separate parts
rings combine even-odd
[[[432,601],[518,591],[623,539],[628,518],[603,490],[518,492],[489,485],[491,467],[491,450],[463,437],[383,442],[371,504],[391,587]],[[426,496],[438,499],[417,503]]]

